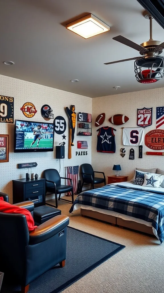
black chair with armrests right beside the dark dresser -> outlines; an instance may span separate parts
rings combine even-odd
[[[64,200],[67,202],[74,202],[74,192],[73,192],[73,185],[71,178],[60,177],[59,172],[56,169],[46,169],[43,171],[43,177],[46,178],[46,192],[54,193],[55,194],[55,207],[58,207],[57,204],[57,194],[59,194],[58,200]],[[61,185],[61,179],[68,179],[71,185]],[[65,200],[60,198],[61,193],[71,192],[72,200]],[[46,205],[50,205],[46,202]],[[50,205],[54,207],[54,205]]]

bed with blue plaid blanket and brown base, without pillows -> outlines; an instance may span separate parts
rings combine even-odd
[[[129,182],[105,185],[80,193],[70,213],[81,209],[81,215],[120,227],[155,235],[164,241],[164,188],[148,188]]]

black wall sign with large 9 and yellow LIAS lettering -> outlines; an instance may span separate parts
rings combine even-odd
[[[14,98],[0,96],[0,122],[14,123]]]

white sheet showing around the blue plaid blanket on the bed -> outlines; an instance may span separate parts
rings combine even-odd
[[[114,184],[114,185],[122,185],[122,186],[127,186],[127,187],[133,187],[135,186],[135,188],[140,188],[140,189],[143,189],[143,190],[151,190],[151,191],[160,191],[160,192],[163,192],[163,196],[164,196],[164,188],[153,188],[153,187],[145,187],[145,186],[138,186],[138,185],[134,185],[133,183],[131,183],[130,181],[127,181],[127,182],[120,182],[120,183],[111,183],[111,184]],[[110,184],[109,184],[110,185]],[[97,207],[92,207],[92,206],[89,206],[89,205],[81,205],[81,204],[76,204],[74,205],[74,210],[71,212],[71,214],[74,213],[75,210],[77,209],[89,209],[91,211],[95,211],[95,212],[99,212],[99,213],[102,213],[102,214],[107,214],[107,215],[111,215],[111,216],[114,216],[114,217],[118,217],[118,218],[121,218],[123,220],[127,220],[127,221],[133,221],[133,222],[136,222],[136,223],[140,223],[140,224],[144,224],[148,227],[151,227],[151,223],[149,222],[146,222],[142,219],[137,219],[137,218],[134,218],[134,217],[130,217],[130,216],[127,216],[127,215],[124,215],[124,214],[120,214],[118,212],[114,212],[114,211],[109,211],[109,210],[106,210],[106,209],[98,209]],[[153,227],[152,227],[153,228]],[[156,229],[153,228],[153,233],[154,235],[158,238],[158,235],[157,235],[157,231]],[[159,238],[158,238],[159,240]]]

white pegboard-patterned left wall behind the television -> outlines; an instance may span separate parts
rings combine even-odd
[[[53,152],[39,152],[39,153],[14,153],[14,124],[0,123],[0,134],[9,134],[9,162],[0,163],[0,191],[9,195],[9,200],[12,203],[12,180],[25,178],[28,170],[18,169],[18,163],[36,162],[37,167],[32,168],[32,173],[37,173],[39,177],[42,176],[42,172],[48,168],[55,168],[59,171],[61,162],[60,176],[65,176],[66,166],[76,166],[82,163],[91,163],[91,137],[79,137],[74,138],[74,147],[72,147],[72,158],[68,159],[68,138],[69,138],[69,119],[65,112],[65,107],[75,105],[75,112],[92,113],[92,99],[84,96],[80,96],[74,93],[61,91],[48,86],[42,86],[34,84],[28,81],[20,79],[14,79],[8,76],[0,75],[0,88],[1,95],[14,97],[14,123],[15,119],[26,121],[38,121],[46,122],[41,116],[41,107],[44,104],[50,105],[53,109],[54,118],[56,116],[62,116],[67,122],[67,129],[65,131],[66,140],[62,140],[62,135],[55,133],[54,135],[54,151]],[[27,118],[23,115],[20,108],[25,102],[32,102],[37,110],[37,113],[32,118]],[[53,119],[48,122],[52,123]],[[77,125],[76,125],[77,126]],[[76,156],[77,141],[87,140],[88,149],[84,151],[88,152],[86,156]],[[65,144],[65,159],[57,161],[55,159],[55,146],[60,142],[66,142]],[[30,170],[29,170],[30,171]],[[64,182],[63,182],[64,184]]]

